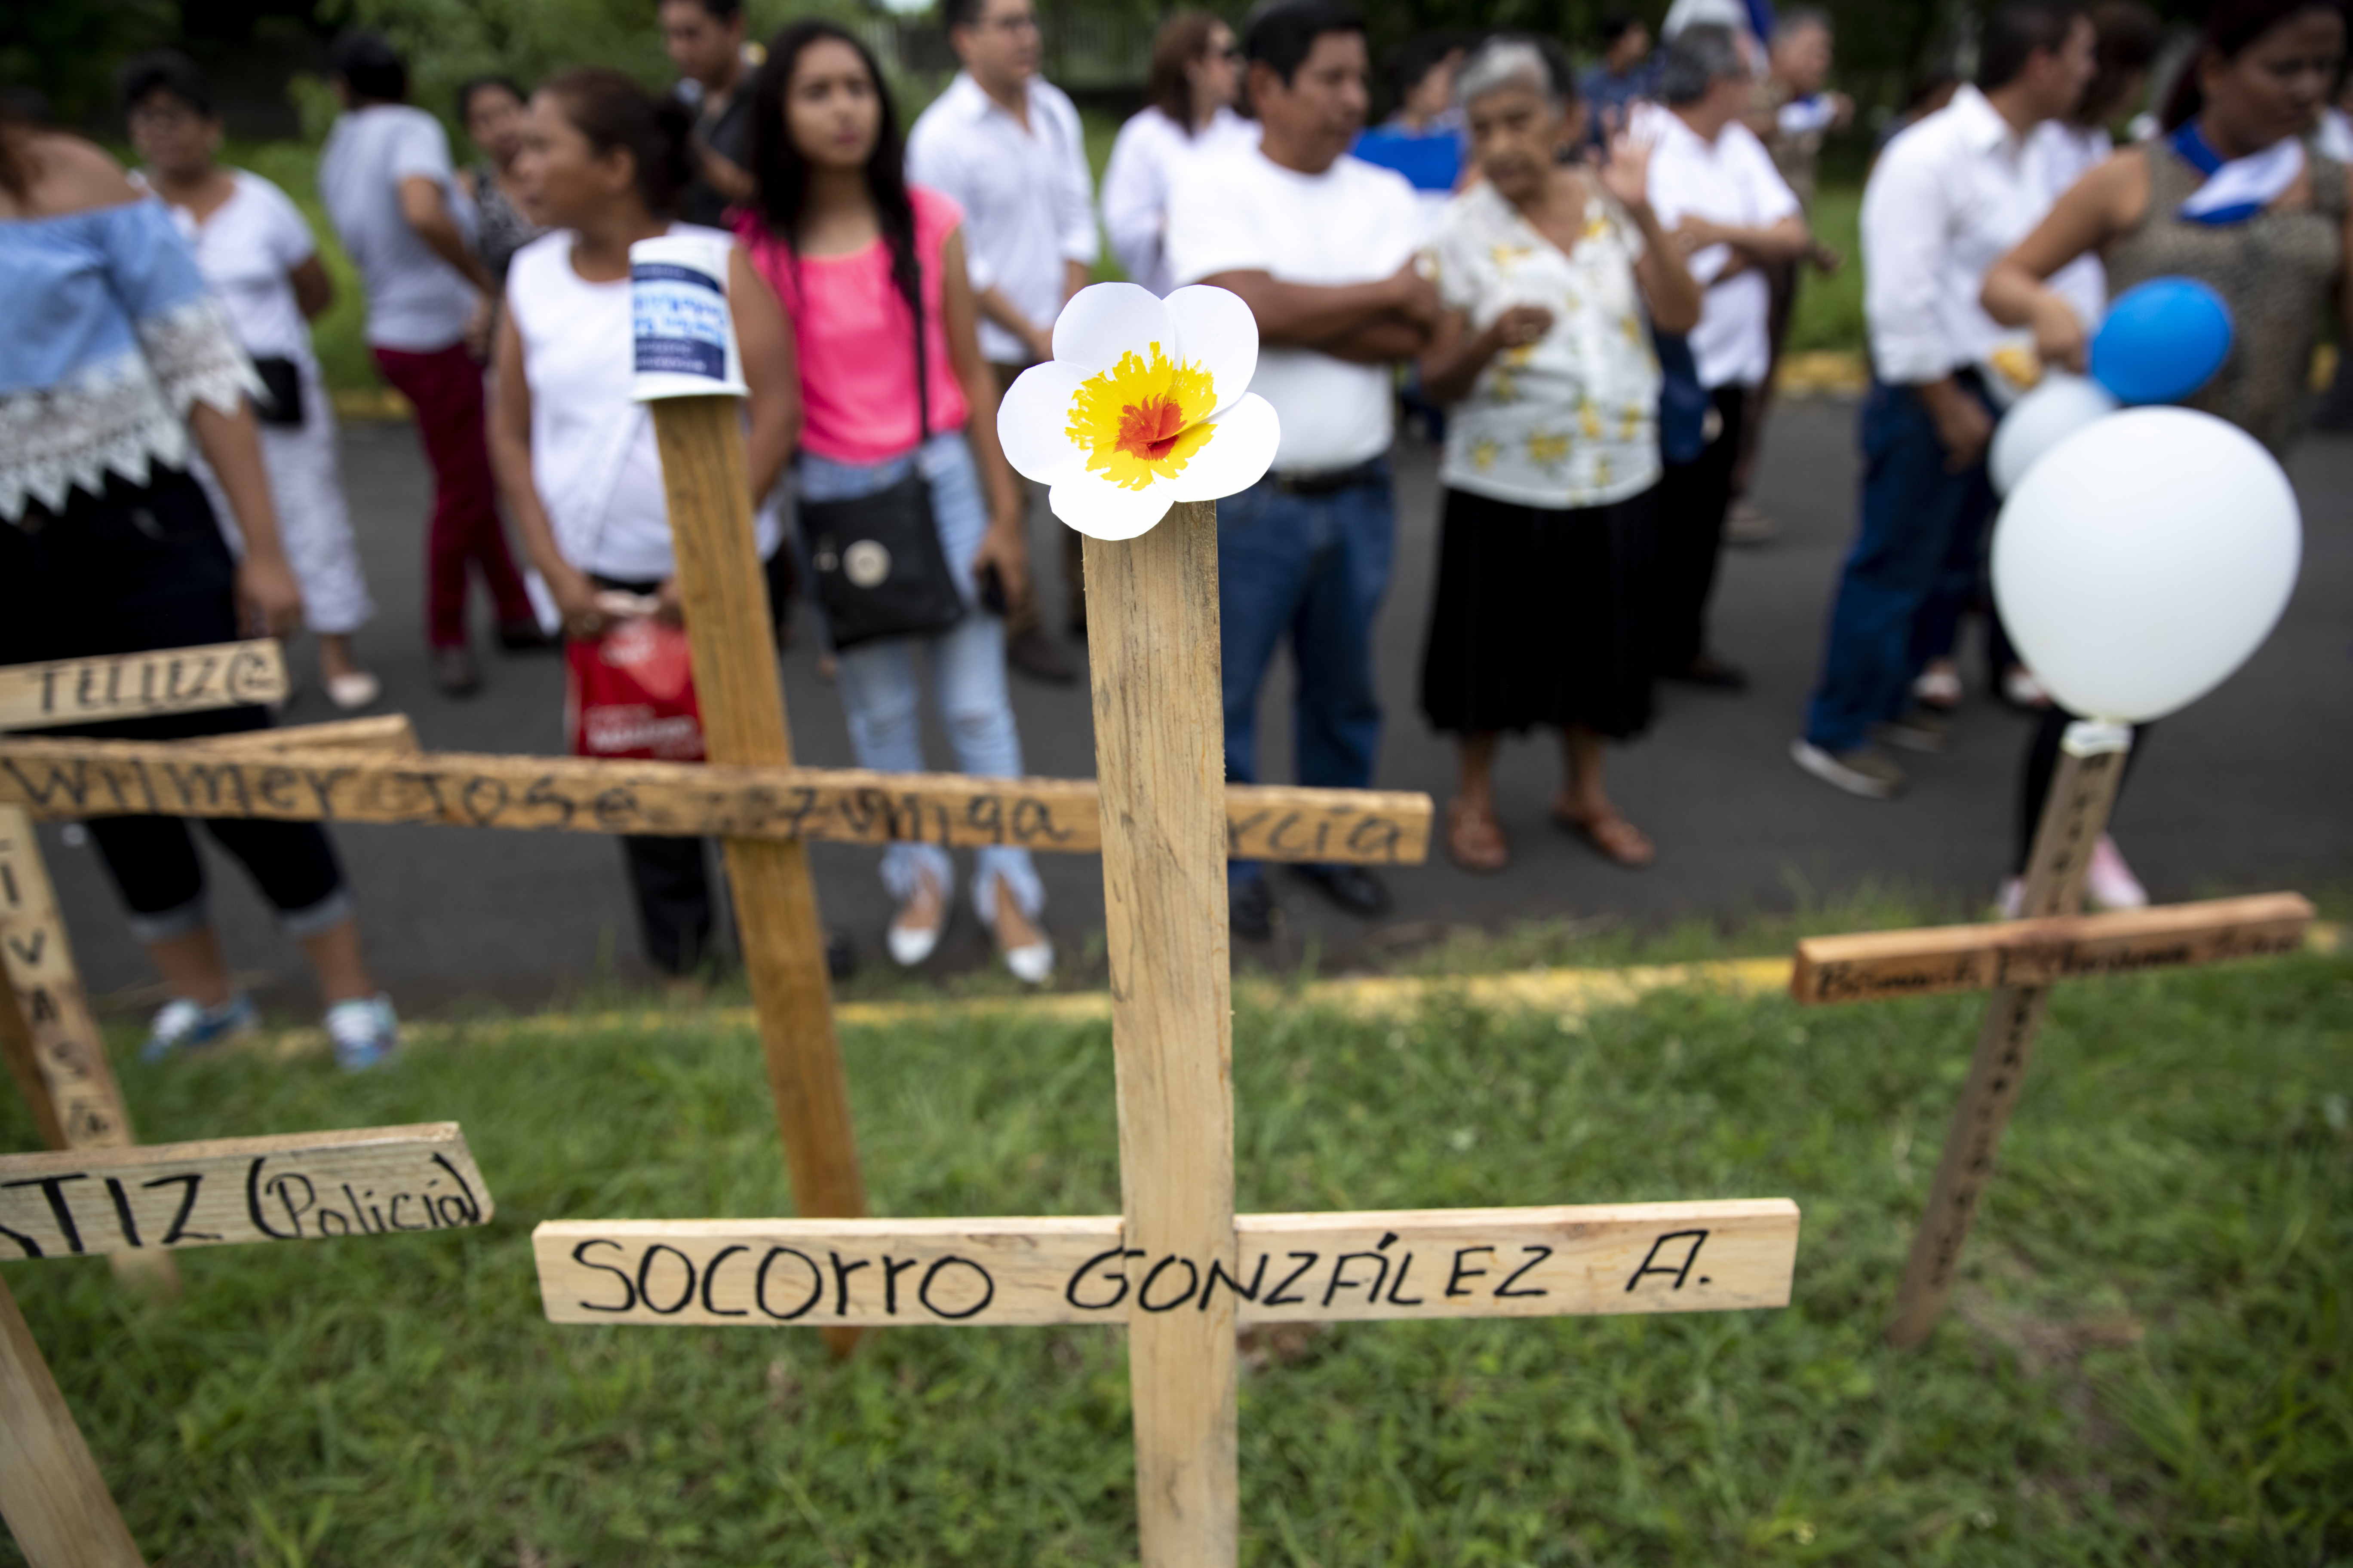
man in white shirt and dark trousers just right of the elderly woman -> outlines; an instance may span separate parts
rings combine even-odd
[[[1689,334],[1699,386],[1708,395],[1706,442],[1668,461],[1659,482],[1652,621],[1659,675],[1739,691],[1748,677],[1708,649],[1708,597],[1725,548],[1725,510],[1751,395],[1772,369],[1772,284],[1765,268],[1814,247],[1798,197],[1772,153],[1741,118],[1755,78],[1732,28],[1689,26],[1659,61],[1659,99],[1635,118],[1652,143],[1649,200],[1659,223],[1689,256],[1706,287]]]

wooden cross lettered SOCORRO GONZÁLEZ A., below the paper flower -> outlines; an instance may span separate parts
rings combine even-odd
[[[1122,1213],[544,1222],[548,1319],[1120,1324],[1144,1563],[1214,1568],[1240,1530],[1238,1324],[1786,1305],[1786,1199],[1233,1213],[1217,508],[1089,538],[1085,574]]]

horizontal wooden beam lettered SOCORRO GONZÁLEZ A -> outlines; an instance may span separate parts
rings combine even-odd
[[[1786,1307],[1788,1199],[1240,1215],[1240,1265],[1148,1255],[1120,1215],[1016,1220],[548,1220],[555,1324],[868,1328],[1588,1316]]]

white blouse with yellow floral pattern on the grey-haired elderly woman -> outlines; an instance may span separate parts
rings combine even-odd
[[[1485,181],[1447,202],[1426,263],[1471,331],[1511,306],[1553,313],[1548,334],[1489,360],[1449,409],[1447,487],[1569,510],[1659,482],[1659,357],[1633,277],[1640,256],[1633,219],[1602,193],[1567,254]]]

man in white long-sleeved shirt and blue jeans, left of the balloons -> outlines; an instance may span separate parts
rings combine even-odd
[[[1986,21],[1977,87],[1889,141],[1864,188],[1861,529],[1791,743],[1798,766],[1849,795],[1889,799],[1906,783],[1875,736],[1944,743],[1906,701],[1927,654],[1951,646],[1993,517],[1986,378],[2009,334],[1977,296],[2049,209],[2035,127],[2073,110],[2089,80],[2092,24],[2064,0],[2012,0]]]

